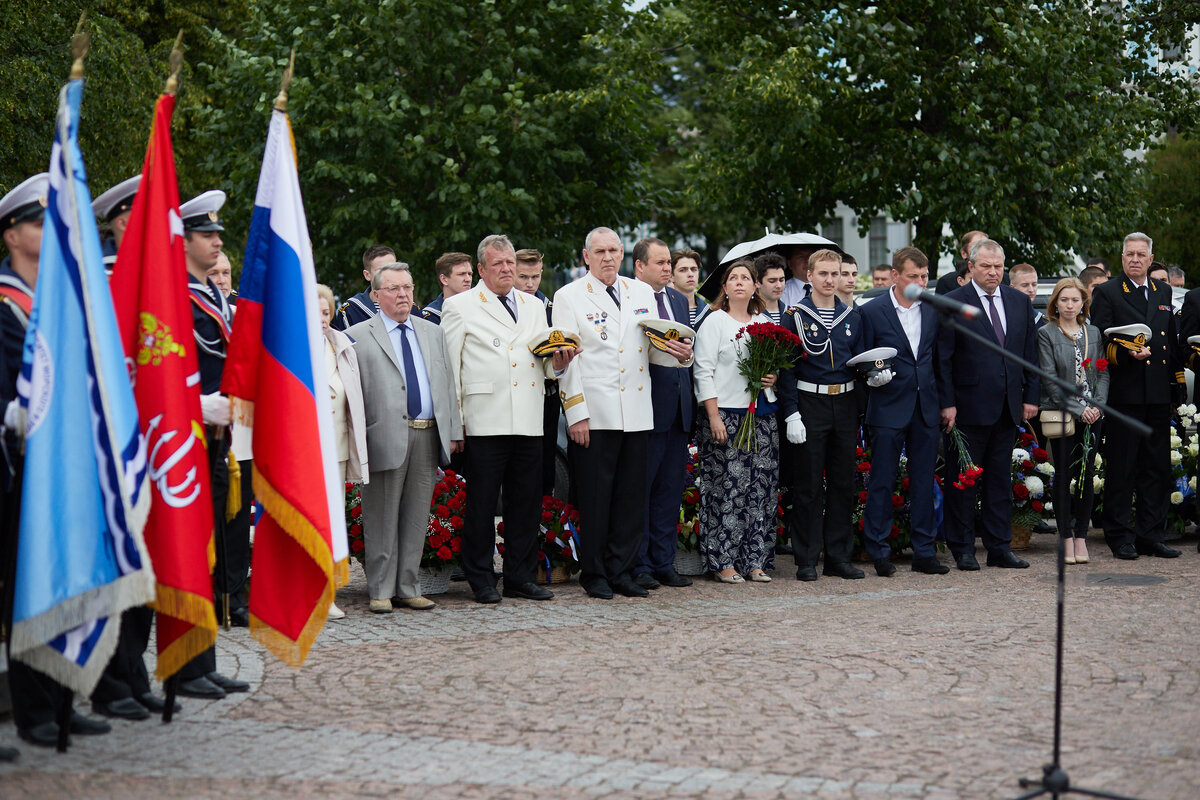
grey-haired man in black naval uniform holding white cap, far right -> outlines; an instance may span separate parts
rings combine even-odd
[[[1109,403],[1141,420],[1153,433],[1147,438],[1121,423],[1105,426],[1104,540],[1118,559],[1141,555],[1175,558],[1180,552],[1163,543],[1171,482],[1171,407],[1183,399],[1183,365],[1175,336],[1171,288],[1147,277],[1153,242],[1142,233],[1124,237],[1123,275],[1092,290],[1092,325],[1100,331],[1123,325],[1150,326],[1145,345],[1129,350],[1108,333],[1105,355],[1111,380]],[[1186,330],[1194,315],[1189,314]],[[1184,342],[1187,339],[1184,338]],[[1136,519],[1130,519],[1133,495]]]

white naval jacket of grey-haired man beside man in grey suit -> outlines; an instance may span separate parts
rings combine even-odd
[[[524,291],[512,294],[515,323],[482,281],[442,306],[442,333],[468,437],[542,434],[545,381],[554,368],[551,359],[529,351],[529,339],[546,330],[546,303]]]

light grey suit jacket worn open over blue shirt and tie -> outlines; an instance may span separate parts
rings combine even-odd
[[[440,463],[450,463],[450,443],[462,439],[462,417],[454,390],[454,374],[446,359],[445,339],[433,323],[409,315],[416,331],[425,369],[433,390],[433,419],[438,423]],[[352,326],[346,333],[354,339],[362,383],[362,405],[367,421],[367,453],[371,471],[403,467],[408,456],[408,395],[404,391],[404,366],[388,338],[383,314]]]

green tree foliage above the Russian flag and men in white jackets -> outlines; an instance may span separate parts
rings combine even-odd
[[[652,96],[634,80],[619,0],[304,0],[253,4],[247,35],[198,68],[202,167],[248,225],[266,118],[288,49],[289,113],[318,273],[361,285],[392,246],[430,297],[434,259],[490,233],[576,258],[588,229],[646,213]]]

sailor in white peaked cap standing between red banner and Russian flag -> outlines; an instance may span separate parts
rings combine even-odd
[[[212,575],[218,618],[226,615],[224,599],[239,590],[248,570],[248,542],[245,552],[226,539],[226,498],[229,492],[229,399],[220,393],[226,350],[233,325],[233,311],[208,271],[221,253],[220,210],[226,194],[220,190],[204,192],[179,206],[184,219],[184,253],[187,259],[187,294],[192,303],[192,326],[200,368],[200,410],[208,440],[209,469],[212,479],[212,524],[217,565]],[[229,609],[232,613],[233,609]],[[179,670],[179,693],[186,697],[222,698],[227,692],[245,692],[250,684],[226,678],[217,672],[216,649],[209,648]]]

